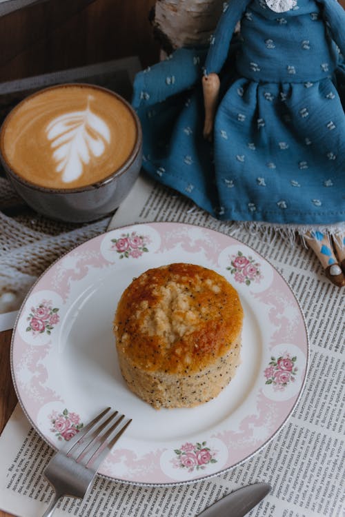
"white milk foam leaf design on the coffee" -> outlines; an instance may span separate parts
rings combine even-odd
[[[88,105],[84,111],[57,116],[46,128],[51,141],[56,172],[62,181],[71,183],[83,174],[92,156],[99,157],[110,143],[108,125]]]

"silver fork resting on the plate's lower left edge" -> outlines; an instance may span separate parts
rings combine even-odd
[[[52,457],[43,474],[55,488],[55,497],[43,517],[50,517],[62,496],[83,498],[110,449],[124,433],[131,419],[111,407],[104,409]]]

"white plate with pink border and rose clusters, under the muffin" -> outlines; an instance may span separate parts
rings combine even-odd
[[[132,278],[173,262],[225,276],[244,307],[242,362],[207,404],[157,411],[132,394],[117,364],[112,320]],[[24,301],[12,340],[19,401],[55,448],[108,405],[133,419],[100,469],[128,483],[188,483],[259,452],[302,393],[304,317],[284,278],[250,247],[203,227],[150,223],[112,230],[52,265]]]

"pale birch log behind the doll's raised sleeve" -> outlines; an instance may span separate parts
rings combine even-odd
[[[170,53],[207,45],[223,5],[224,0],[157,0],[151,21],[161,48]]]

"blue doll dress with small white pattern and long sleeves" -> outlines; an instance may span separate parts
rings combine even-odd
[[[210,43],[137,75],[144,168],[219,219],[344,221],[342,7],[298,0],[277,14],[232,0]],[[205,70],[221,77],[213,143],[202,136]]]

